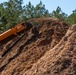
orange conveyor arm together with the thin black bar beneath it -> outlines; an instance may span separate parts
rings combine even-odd
[[[21,35],[20,38],[18,38],[17,40],[15,40],[15,43],[13,43],[3,54],[2,57],[5,56],[10,50],[11,48],[13,48],[16,43],[24,36],[26,35],[25,32],[29,31],[32,28],[32,24],[29,22],[22,22],[20,24],[17,24],[15,27],[5,31],[4,33],[0,34],[0,46],[6,44],[8,41],[10,41],[11,39],[13,39],[14,37],[18,36],[19,34],[23,34]]]

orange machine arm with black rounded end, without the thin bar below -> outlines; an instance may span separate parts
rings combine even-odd
[[[31,28],[32,28],[32,24],[29,22],[25,22],[25,23],[23,22],[16,25],[15,27],[0,34],[0,44],[5,43],[10,39],[13,39],[18,34],[23,33],[24,31],[28,31]]]

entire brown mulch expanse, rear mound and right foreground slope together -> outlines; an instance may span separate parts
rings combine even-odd
[[[28,22],[36,27],[9,52],[19,37],[0,46],[0,75],[76,75],[76,25],[52,18]]]

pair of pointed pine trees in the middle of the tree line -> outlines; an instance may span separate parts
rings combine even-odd
[[[24,16],[27,19],[31,18],[39,18],[39,17],[46,17],[50,16],[48,10],[45,9],[45,5],[42,4],[40,1],[39,4],[34,7],[30,2],[25,6],[24,9]]]

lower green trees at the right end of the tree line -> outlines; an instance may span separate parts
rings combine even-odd
[[[58,18],[62,21],[67,22],[69,25],[76,23],[76,9],[73,11],[71,15],[65,14],[61,8],[58,6],[56,10],[54,10],[51,14],[52,17]]]

